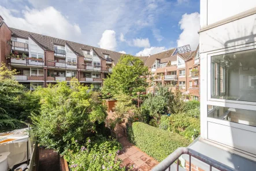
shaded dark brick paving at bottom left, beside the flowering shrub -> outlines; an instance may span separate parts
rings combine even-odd
[[[58,153],[51,149],[38,147],[39,171],[60,171],[60,158]]]

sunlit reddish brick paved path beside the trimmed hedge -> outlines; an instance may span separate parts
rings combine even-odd
[[[127,137],[122,137],[118,139],[118,141],[123,146],[123,150],[117,155],[117,157],[123,161],[121,164],[122,166],[134,165],[134,170],[147,171],[158,164],[155,159],[149,157],[149,155],[142,152],[139,148],[133,146],[133,144],[127,140]]]

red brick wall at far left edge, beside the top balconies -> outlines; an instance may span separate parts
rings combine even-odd
[[[6,63],[6,55],[10,53],[11,46],[7,43],[12,38],[12,32],[8,26],[3,23],[0,27],[0,63]]]

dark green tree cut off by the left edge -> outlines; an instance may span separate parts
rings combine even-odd
[[[0,131],[24,127],[21,116],[25,87],[14,80],[16,70],[9,70],[5,64],[0,66]]]

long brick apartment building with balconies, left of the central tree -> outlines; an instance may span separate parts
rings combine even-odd
[[[121,53],[9,28],[0,17],[0,62],[19,73],[16,80],[33,90],[76,77],[84,85],[102,86]]]

